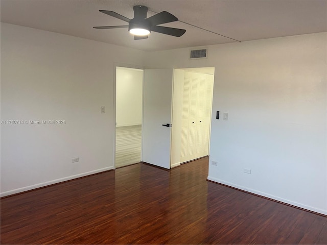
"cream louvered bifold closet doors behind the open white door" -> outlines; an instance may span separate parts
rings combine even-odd
[[[184,72],[181,162],[208,155],[213,82],[213,75]]]

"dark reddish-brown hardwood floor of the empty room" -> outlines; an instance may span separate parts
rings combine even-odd
[[[327,244],[327,217],[135,164],[1,199],[2,244]]]

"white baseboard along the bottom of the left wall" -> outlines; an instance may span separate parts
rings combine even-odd
[[[98,174],[98,173],[101,173],[103,171],[112,170],[112,169],[114,169],[113,166],[100,168],[100,169],[92,170],[92,171],[82,173],[82,174],[78,174],[78,175],[72,175],[72,176],[61,178],[61,179],[51,180],[51,181],[47,181],[47,182],[43,182],[43,183],[39,183],[39,184],[35,184],[35,185],[30,185],[30,186],[26,186],[26,187],[14,189],[14,190],[9,190],[9,191],[5,191],[5,192],[1,192],[0,197],[6,197],[7,195],[17,194],[17,193],[28,191],[28,190],[33,190],[33,189],[36,189],[36,188],[40,188],[40,187],[44,187],[44,186],[47,186],[47,185],[60,183],[60,182],[67,181],[67,180],[73,180],[73,179],[77,179],[77,178],[84,177],[84,176],[87,176],[87,175]]]

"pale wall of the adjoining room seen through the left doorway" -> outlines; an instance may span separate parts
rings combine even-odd
[[[143,70],[117,67],[116,122],[117,126],[142,124]]]

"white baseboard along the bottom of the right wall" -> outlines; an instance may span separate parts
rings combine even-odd
[[[284,198],[275,197],[274,195],[271,195],[271,194],[268,194],[268,193],[265,193],[265,192],[261,192],[259,190],[250,189],[250,188],[247,188],[245,186],[233,184],[233,183],[230,183],[230,182],[227,182],[227,181],[224,181],[224,180],[220,180],[220,179],[217,179],[217,178],[214,178],[214,177],[211,177],[211,176],[208,176],[207,179],[211,180],[211,181],[214,181],[214,182],[217,182],[217,183],[220,183],[220,184],[224,184],[224,185],[235,187],[235,188],[238,188],[238,189],[241,189],[241,190],[245,190],[245,191],[257,194],[257,195],[261,195],[262,197],[270,198],[270,199],[273,199],[273,200],[276,200],[276,201],[279,201],[279,202],[283,202],[283,203],[287,203],[287,204],[290,204],[290,205],[293,205],[293,206],[296,206],[296,207],[299,207],[299,208],[304,208],[304,209],[307,209],[307,210],[310,210],[310,211],[314,211],[314,212],[317,212],[317,213],[327,215],[327,210],[307,206],[307,205],[297,203],[297,202],[293,202],[293,201],[290,201],[290,200],[287,200],[287,199],[284,199]]]

